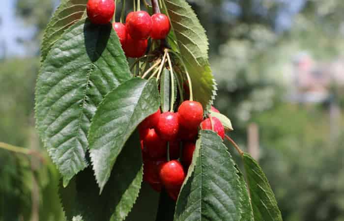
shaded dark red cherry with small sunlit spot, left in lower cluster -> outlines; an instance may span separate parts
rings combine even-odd
[[[157,135],[155,129],[148,129],[143,138],[143,146],[151,158],[164,157],[167,154],[167,142]]]

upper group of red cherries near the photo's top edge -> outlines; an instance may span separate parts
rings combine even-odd
[[[115,13],[114,0],[88,0],[87,16],[93,24],[108,24]],[[120,22],[113,23],[122,49],[128,57],[141,57],[148,46],[148,38],[165,39],[169,34],[171,25],[169,18],[156,13],[150,16],[146,11],[130,12],[125,25]]]

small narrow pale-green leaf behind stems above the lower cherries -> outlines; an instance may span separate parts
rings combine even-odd
[[[160,80],[160,100],[161,109],[163,112],[170,111],[170,90],[171,90],[171,77],[170,71],[164,69],[161,73]]]

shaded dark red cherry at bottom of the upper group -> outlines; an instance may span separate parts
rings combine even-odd
[[[122,45],[123,51],[128,57],[142,57],[148,46],[148,40],[134,40],[127,34],[127,40]]]

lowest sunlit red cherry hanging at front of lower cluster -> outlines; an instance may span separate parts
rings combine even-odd
[[[160,179],[166,189],[173,189],[181,186],[185,179],[183,166],[177,160],[163,164],[160,168]]]

